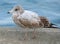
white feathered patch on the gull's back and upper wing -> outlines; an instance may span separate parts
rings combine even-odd
[[[32,11],[27,11],[27,10],[24,10],[24,13],[20,14],[17,18],[28,20],[28,21],[32,21],[32,20],[40,21],[37,13]]]

